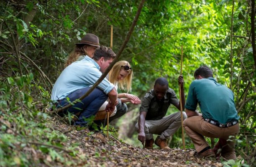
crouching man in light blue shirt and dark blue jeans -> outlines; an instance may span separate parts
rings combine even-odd
[[[93,58],[85,56],[82,61],[76,61],[67,66],[54,84],[51,100],[57,101],[59,104],[57,107],[61,107],[69,104],[68,101],[79,99],[100,78],[115,56],[110,48],[101,46],[95,50]],[[104,78],[89,96],[64,112],[80,113],[75,125],[86,126],[87,122],[84,119],[95,115],[108,98],[110,101],[106,111],[113,111],[116,105],[117,91],[115,86]]]

